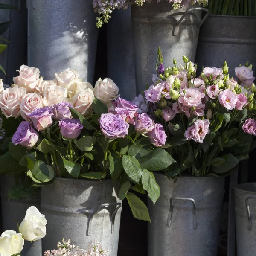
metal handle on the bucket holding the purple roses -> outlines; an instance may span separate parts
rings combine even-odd
[[[118,206],[118,207],[116,207],[116,209],[113,212],[111,212],[111,214],[110,214],[110,233],[113,234],[113,232],[114,232],[114,225],[113,225],[114,217],[116,215],[116,212],[121,208],[121,206],[122,206],[121,203],[105,203],[105,204],[99,205],[98,208],[96,208],[96,210],[93,213],[91,213],[88,217],[86,236],[90,236],[91,222],[93,220],[93,216],[96,215],[102,208],[109,209],[110,206],[114,206],[114,205]],[[85,213],[85,212],[87,212],[86,210],[87,210],[87,208],[80,209],[79,212]]]

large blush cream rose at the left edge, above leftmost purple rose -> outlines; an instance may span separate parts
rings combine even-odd
[[[6,118],[20,116],[20,103],[26,95],[26,89],[23,87],[7,88],[0,95],[0,108]]]

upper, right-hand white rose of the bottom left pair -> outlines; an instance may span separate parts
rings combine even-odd
[[[46,235],[47,220],[44,215],[39,212],[35,207],[29,207],[26,211],[26,216],[20,223],[20,233],[27,241],[33,241],[35,239],[41,239]]]

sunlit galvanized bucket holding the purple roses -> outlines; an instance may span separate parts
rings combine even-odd
[[[41,189],[41,210],[48,221],[43,251],[70,239],[82,249],[97,239],[117,256],[121,203],[111,180],[56,178]]]

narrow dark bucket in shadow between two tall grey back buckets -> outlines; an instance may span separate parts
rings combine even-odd
[[[115,10],[107,24],[108,77],[128,100],[136,96],[131,9]]]

